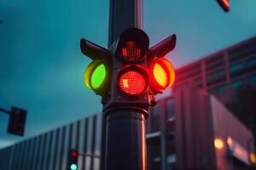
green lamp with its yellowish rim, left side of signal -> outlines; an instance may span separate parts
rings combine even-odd
[[[107,67],[100,60],[92,61],[84,72],[84,84],[90,89],[101,88],[106,79]]]

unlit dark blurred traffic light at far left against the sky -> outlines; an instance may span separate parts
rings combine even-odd
[[[12,107],[9,114],[8,133],[23,136],[26,123],[26,110]]]

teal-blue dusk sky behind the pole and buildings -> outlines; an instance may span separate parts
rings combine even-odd
[[[0,113],[0,148],[102,111],[84,86],[90,59],[81,37],[108,47],[107,0],[0,1],[0,107],[28,111],[24,137],[6,133]],[[150,45],[175,33],[168,54],[178,68],[256,35],[256,1],[231,0],[225,14],[216,0],[145,0],[144,31]]]

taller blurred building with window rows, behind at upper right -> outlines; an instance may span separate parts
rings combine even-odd
[[[243,84],[256,84],[256,37],[178,68],[173,90],[202,88],[226,104]]]

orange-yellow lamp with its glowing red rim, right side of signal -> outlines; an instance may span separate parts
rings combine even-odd
[[[154,60],[149,67],[150,88],[156,93],[162,93],[172,87],[175,71],[170,61],[165,58]]]

